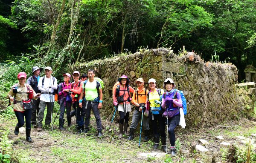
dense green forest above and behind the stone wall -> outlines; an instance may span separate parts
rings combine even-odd
[[[183,46],[232,62],[239,81],[256,66],[255,0],[0,0],[0,33],[0,62],[26,57],[54,70]]]

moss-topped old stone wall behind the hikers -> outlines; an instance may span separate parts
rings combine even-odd
[[[187,99],[187,126],[211,126],[236,119],[244,112],[244,103],[235,86],[236,66],[231,63],[204,63],[192,52],[178,56],[170,49],[144,49],[135,54],[79,63],[75,69],[80,72],[95,69],[96,77],[102,78],[105,89],[101,115],[109,120],[113,115],[112,87],[123,74],[129,77],[134,89],[139,77],[143,77],[145,82],[155,78],[157,88],[163,87],[167,77],[172,78],[176,88],[183,90]],[[148,83],[145,87],[148,89]]]

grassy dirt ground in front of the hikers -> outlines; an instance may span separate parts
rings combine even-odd
[[[25,154],[27,157],[23,162],[33,163],[60,163],[60,162],[125,162],[125,163],[141,163],[141,162],[165,162],[170,156],[147,157],[139,156],[144,152],[161,152],[160,150],[153,151],[153,140],[142,142],[142,146],[138,148],[138,133],[133,141],[125,140],[125,138],[117,138],[116,124],[113,125],[113,133],[107,132],[104,129],[104,137],[96,138],[93,132],[87,135],[77,134],[75,127],[71,127],[64,132],[60,132],[57,126],[55,130],[44,129],[42,132],[37,132],[32,129],[32,139],[34,143],[25,141],[25,129],[20,129],[20,134],[13,133],[15,118],[1,124],[0,129],[10,129],[9,140],[13,140],[13,148],[15,153]],[[94,124],[94,121],[91,121]],[[108,121],[103,121],[103,126],[109,126]],[[191,163],[211,163],[212,156],[215,157],[215,162],[221,160],[224,150],[227,148],[220,145],[222,142],[236,143],[237,146],[245,148],[245,143],[250,139],[252,149],[255,152],[255,138],[251,134],[256,134],[256,122],[241,119],[224,123],[211,128],[203,129],[177,129],[176,138],[179,138],[182,143],[181,153],[185,157],[184,162]],[[221,135],[224,140],[216,140],[215,136]],[[237,136],[245,137],[239,138]],[[152,137],[151,137],[152,138]],[[189,150],[198,143],[199,139],[206,140],[209,144],[205,145],[208,152],[194,152],[189,154]],[[169,143],[168,143],[169,145]],[[161,152],[162,153],[162,152]],[[180,158],[172,158],[172,161],[177,162]]]

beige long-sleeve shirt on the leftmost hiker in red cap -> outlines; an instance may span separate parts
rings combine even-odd
[[[13,88],[15,88],[16,86],[18,88],[20,88],[21,91],[18,92],[18,93],[13,93]],[[24,86],[20,86],[20,83],[17,83],[15,85],[13,85],[11,87],[10,91],[8,92],[8,97],[11,97],[11,96],[15,97],[14,105],[13,105],[13,110],[14,111],[17,111],[17,112],[24,112],[25,111],[25,109],[23,109],[23,107],[20,105],[20,101],[29,99],[29,94],[27,93],[28,92],[27,87],[29,87],[29,90],[33,91],[33,98],[37,99],[35,91],[32,89],[32,87],[29,84],[25,83]],[[16,101],[16,103],[15,103],[15,101]]]

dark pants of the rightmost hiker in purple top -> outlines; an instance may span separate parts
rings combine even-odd
[[[168,134],[171,146],[175,145],[175,128],[179,126],[180,114],[175,115],[172,118],[168,118]]]

